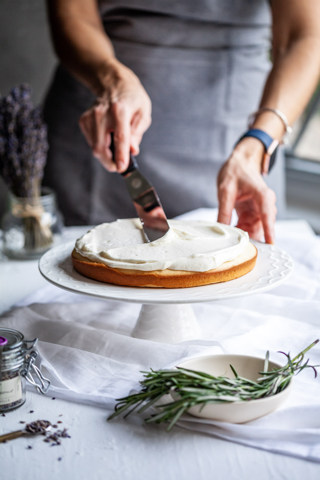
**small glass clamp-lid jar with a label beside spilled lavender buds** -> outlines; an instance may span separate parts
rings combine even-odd
[[[38,393],[47,393],[50,382],[35,365],[38,352],[34,347],[37,341],[37,338],[25,340],[23,334],[13,328],[0,328],[0,412],[24,404],[26,380],[34,385]]]

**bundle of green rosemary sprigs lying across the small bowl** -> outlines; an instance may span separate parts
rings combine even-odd
[[[315,367],[308,365],[309,360],[306,362],[303,362],[303,360],[305,353],[318,342],[319,339],[311,343],[311,345],[296,355],[294,359],[290,358],[289,353],[279,352],[283,353],[288,361],[284,367],[273,369],[271,372],[268,372],[268,351],[264,361],[263,372],[260,372],[261,378],[255,382],[240,377],[232,365],[230,367],[236,377],[234,379],[225,376],[214,377],[208,373],[184,368],[159,370],[157,372],[151,369],[150,372],[142,372],[145,373],[145,380],[140,382],[142,385],[141,391],[134,395],[118,398],[117,401],[119,403],[115,407],[115,412],[110,415],[108,420],[113,419],[131,407],[125,417],[142,404],[144,405],[137,410],[137,413],[142,413],[154,405],[160,410],[159,413],[152,415],[145,421],[156,423],[168,421],[170,423],[166,430],[169,432],[181,415],[195,405],[201,405],[203,408],[210,403],[249,401],[275,395],[284,390],[295,373],[299,373],[305,368],[312,368],[315,376],[317,376]],[[171,388],[177,392],[178,400],[155,405],[162,396],[170,393]]]

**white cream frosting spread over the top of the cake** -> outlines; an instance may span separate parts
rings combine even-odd
[[[143,243],[139,218],[103,223],[76,241],[84,257],[112,268],[206,272],[235,260],[249,243],[247,232],[221,223],[169,220],[159,240]]]

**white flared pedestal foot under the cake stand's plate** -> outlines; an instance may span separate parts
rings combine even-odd
[[[160,343],[200,338],[201,329],[189,304],[143,304],[132,336]]]

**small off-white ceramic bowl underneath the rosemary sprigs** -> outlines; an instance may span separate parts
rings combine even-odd
[[[187,360],[177,365],[177,367],[198,370],[214,376],[224,375],[229,378],[235,378],[229,366],[230,364],[235,368],[238,375],[255,381],[261,377],[259,372],[263,370],[264,360],[247,355],[208,355],[206,357]],[[270,371],[280,366],[281,365],[277,363],[269,362],[268,370]],[[195,417],[210,420],[245,423],[263,417],[279,408],[290,394],[291,388],[292,380],[282,392],[273,396],[249,400],[248,402],[239,401],[233,403],[208,404],[205,405],[202,410],[201,406],[191,407],[189,413]],[[178,398],[178,394],[174,391],[171,392],[171,396]]]

